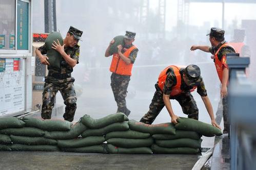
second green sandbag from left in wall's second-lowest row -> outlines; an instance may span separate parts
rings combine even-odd
[[[10,135],[11,141],[13,143],[19,144],[28,144],[28,145],[40,145],[40,144],[48,144],[48,145],[57,145],[57,140],[47,139],[44,137],[28,137],[28,136],[14,136]]]

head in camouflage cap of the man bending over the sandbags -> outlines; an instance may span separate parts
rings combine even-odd
[[[185,77],[190,86],[194,86],[200,79],[201,71],[197,65],[190,64],[184,70]]]

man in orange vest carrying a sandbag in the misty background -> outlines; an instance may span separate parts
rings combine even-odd
[[[126,107],[127,88],[130,81],[131,70],[133,63],[137,57],[138,48],[132,44],[136,33],[126,31],[124,36],[124,46],[118,45],[118,51],[115,54],[110,54],[110,45],[114,43],[112,39],[106,49],[105,57],[113,55],[110,65],[111,75],[111,88],[114,94],[114,99],[117,104],[117,112],[122,112],[127,116],[130,110]]]

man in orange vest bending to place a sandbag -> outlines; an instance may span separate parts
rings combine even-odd
[[[155,84],[155,93],[149,111],[141,118],[140,122],[152,124],[160,111],[166,107],[171,116],[171,122],[176,124],[176,116],[172,110],[170,99],[178,101],[182,107],[183,113],[189,118],[198,120],[199,110],[196,102],[190,92],[196,88],[197,92],[205,104],[207,112],[211,118],[211,124],[220,128],[215,122],[211,102],[207,96],[203,78],[200,76],[201,71],[197,65],[176,66],[170,65],[166,67],[159,75]]]

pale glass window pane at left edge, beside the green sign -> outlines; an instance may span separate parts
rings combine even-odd
[[[0,0],[0,50],[15,50],[15,0]]]

